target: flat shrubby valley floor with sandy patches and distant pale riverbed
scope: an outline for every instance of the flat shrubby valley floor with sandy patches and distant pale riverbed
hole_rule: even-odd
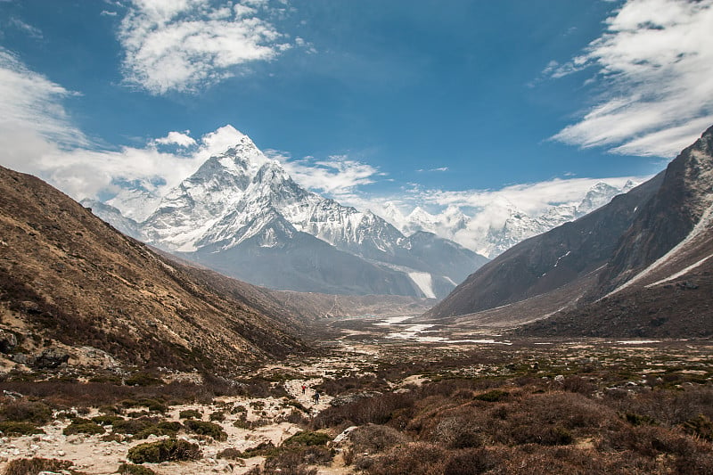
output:
[[[217,375],[205,394],[7,373],[0,471],[37,473],[18,461],[40,458],[86,474],[713,471],[709,340],[504,340],[397,317],[315,334],[319,356]],[[171,439],[200,455],[119,471],[142,462],[132,447]]]

